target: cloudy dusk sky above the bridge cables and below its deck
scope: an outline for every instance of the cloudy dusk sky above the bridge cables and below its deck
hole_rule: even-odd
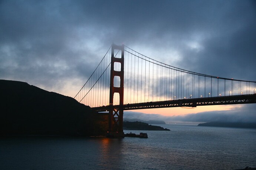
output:
[[[256,81],[255,0],[1,0],[0,23],[0,79],[66,96],[76,95],[112,43],[181,69]],[[136,113],[247,121],[256,120],[255,110],[245,104]]]

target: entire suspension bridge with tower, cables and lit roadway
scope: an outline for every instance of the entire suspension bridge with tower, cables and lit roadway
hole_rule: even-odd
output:
[[[108,136],[123,137],[124,110],[256,103],[255,92],[256,81],[180,69],[112,44],[74,98],[108,112]]]

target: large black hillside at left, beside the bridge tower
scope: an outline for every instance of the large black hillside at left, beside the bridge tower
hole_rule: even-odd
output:
[[[105,128],[89,106],[25,82],[0,80],[0,100],[0,135],[91,136]]]

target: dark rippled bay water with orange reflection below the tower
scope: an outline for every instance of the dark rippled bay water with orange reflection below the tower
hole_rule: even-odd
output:
[[[256,167],[256,129],[161,125],[148,138],[0,138],[0,169],[239,169]],[[125,130],[125,133],[142,131]]]

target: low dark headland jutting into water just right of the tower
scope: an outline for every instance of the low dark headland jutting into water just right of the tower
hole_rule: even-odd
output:
[[[148,125],[144,122],[123,122],[123,128],[126,130],[170,130],[160,126]]]

